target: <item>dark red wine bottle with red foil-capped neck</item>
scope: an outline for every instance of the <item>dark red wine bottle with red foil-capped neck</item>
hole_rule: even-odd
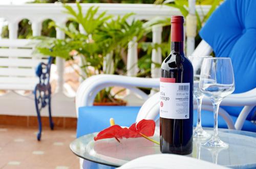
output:
[[[183,52],[183,16],[172,16],[172,48],[161,65],[160,150],[187,155],[193,150],[193,66]]]

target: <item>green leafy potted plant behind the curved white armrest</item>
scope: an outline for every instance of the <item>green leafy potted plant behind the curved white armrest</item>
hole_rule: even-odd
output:
[[[66,27],[52,23],[51,26],[61,29],[67,38],[37,37],[41,41],[37,44],[36,52],[65,60],[79,57],[82,70],[79,75],[83,79],[100,73],[124,74],[125,49],[133,37],[139,40],[146,32],[143,22],[134,19],[127,22],[133,13],[113,18],[106,12],[98,14],[98,7],[91,7],[85,15],[79,3],[77,12],[68,5],[64,7],[71,16],[69,19],[80,24],[85,33],[79,32],[72,23]],[[111,93],[111,88],[100,91],[95,98],[95,105],[125,105],[123,100],[115,97],[116,94]]]

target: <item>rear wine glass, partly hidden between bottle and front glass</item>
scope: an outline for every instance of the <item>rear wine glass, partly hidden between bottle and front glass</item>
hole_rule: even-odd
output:
[[[212,58],[211,56],[193,56],[188,57],[191,61],[194,69],[194,96],[197,99],[197,126],[193,132],[194,138],[209,138],[210,134],[203,130],[201,125],[201,106],[204,94],[199,89],[199,80],[200,80],[200,73],[201,67],[204,58]]]

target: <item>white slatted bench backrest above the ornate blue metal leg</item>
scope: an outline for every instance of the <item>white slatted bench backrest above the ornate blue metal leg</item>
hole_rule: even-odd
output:
[[[33,54],[35,40],[0,40],[0,89],[34,90],[39,78],[35,69],[47,57]]]

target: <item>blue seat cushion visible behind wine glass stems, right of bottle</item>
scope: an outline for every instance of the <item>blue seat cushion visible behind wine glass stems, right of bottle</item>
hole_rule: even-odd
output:
[[[233,122],[236,122],[237,117],[231,116]],[[203,127],[214,127],[214,113],[212,111],[202,110],[201,122]],[[194,110],[194,126],[197,125],[197,110]],[[228,128],[225,120],[218,116],[218,127]],[[250,121],[245,121],[242,130],[256,132],[256,125]]]

